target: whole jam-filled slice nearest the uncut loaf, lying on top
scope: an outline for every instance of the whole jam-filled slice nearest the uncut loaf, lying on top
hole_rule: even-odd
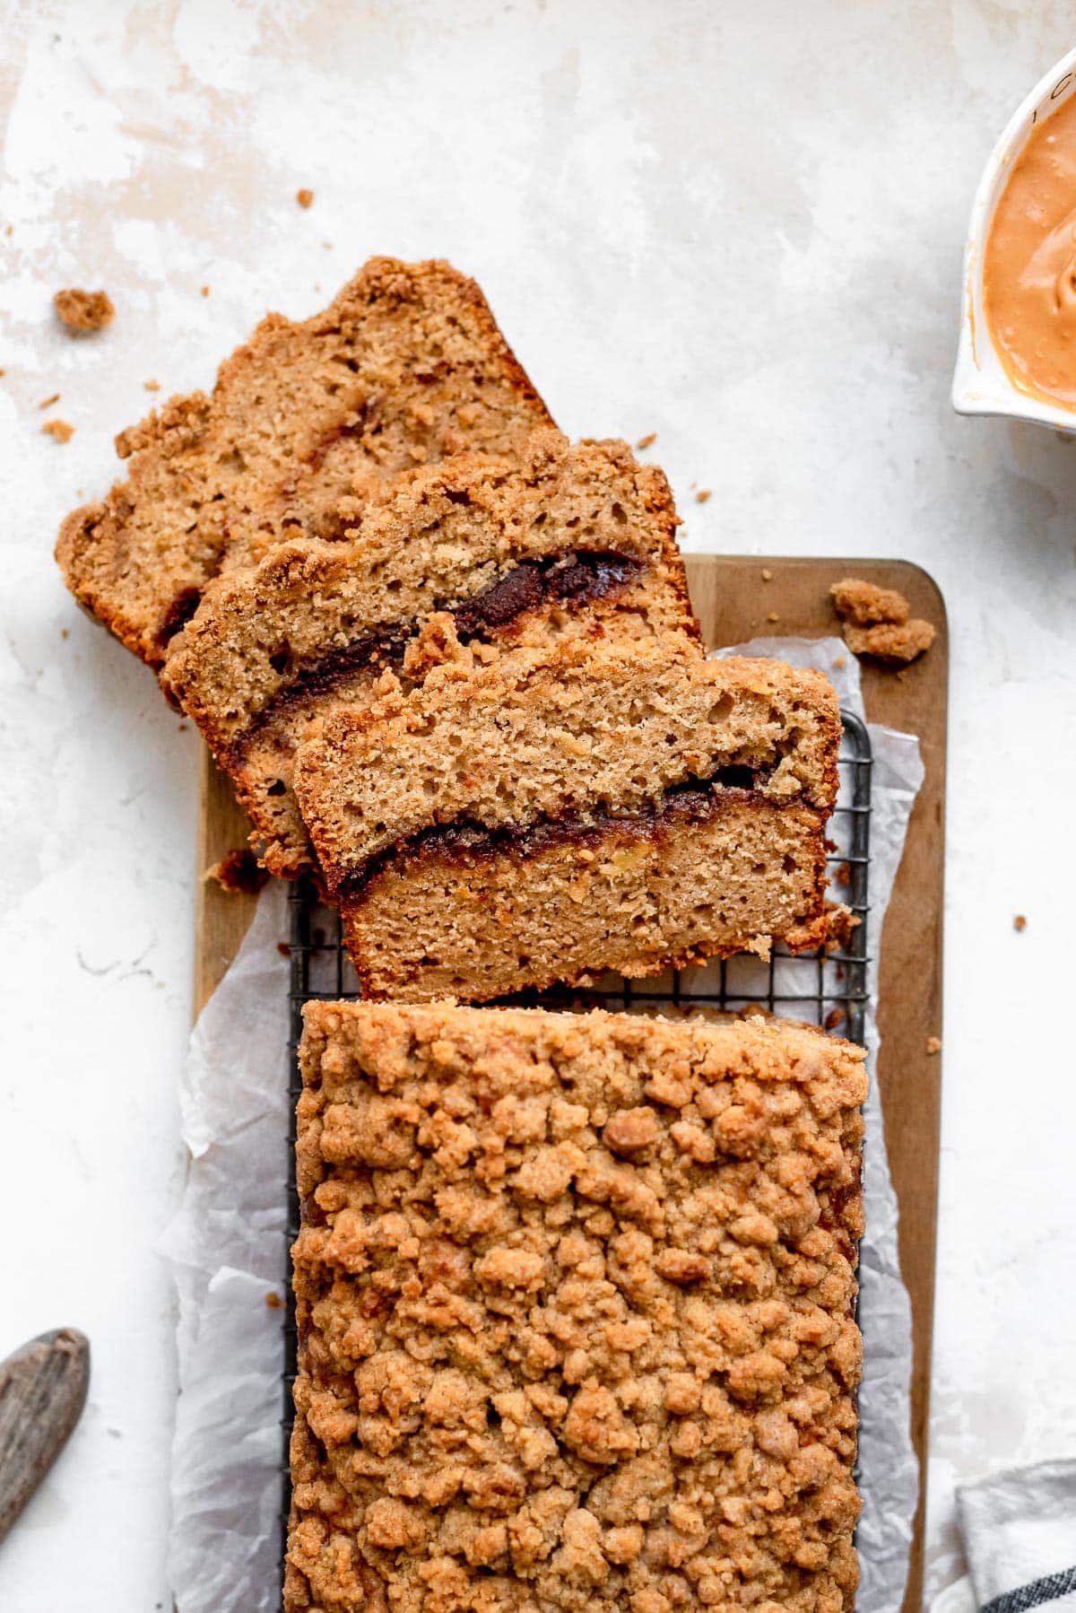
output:
[[[576,640],[337,713],[295,790],[365,994],[478,1002],[818,945],[839,742],[818,673]]]

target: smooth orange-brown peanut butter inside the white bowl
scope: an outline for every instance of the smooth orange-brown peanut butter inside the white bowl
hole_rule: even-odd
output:
[[[982,306],[1021,392],[1076,410],[1076,95],[1036,124],[994,210]]]

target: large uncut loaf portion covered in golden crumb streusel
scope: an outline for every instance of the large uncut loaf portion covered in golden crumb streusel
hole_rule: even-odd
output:
[[[311,1003],[287,1613],[855,1603],[863,1052]]]

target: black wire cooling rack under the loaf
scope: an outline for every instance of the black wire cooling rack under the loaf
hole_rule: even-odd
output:
[[[840,790],[828,826],[828,863],[831,894],[858,919],[836,952],[807,952],[790,957],[776,947],[771,958],[724,958],[690,969],[668,971],[653,979],[632,982],[608,976],[595,987],[578,992],[553,989],[528,994],[526,1002],[547,1008],[594,1005],[621,1011],[647,1008],[705,1007],[728,1013],[760,1008],[805,1019],[826,1031],[863,1042],[866,1021],[866,966],[870,866],[871,866],[871,737],[853,711],[842,711],[839,756]],[[292,1073],[290,1124],[287,1139],[287,1247],[298,1236],[298,1194],[295,1189],[295,1100],[302,1092],[298,1079],[298,1040],[303,1032],[303,1003],[337,1002],[360,995],[355,971],[340,939],[339,913],[324,907],[311,884],[300,881],[289,894],[290,953],[290,1039],[289,1069]],[[289,1258],[290,1273],[290,1258]],[[284,1324],[284,1494],[281,1508],[281,1573],[287,1515],[290,1508],[289,1439],[292,1429],[292,1384],[295,1382],[295,1308],[287,1287],[287,1319]]]

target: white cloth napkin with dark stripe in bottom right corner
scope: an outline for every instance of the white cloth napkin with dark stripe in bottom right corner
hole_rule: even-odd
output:
[[[966,1484],[957,1515],[970,1576],[931,1613],[1076,1613],[1076,1461]]]

